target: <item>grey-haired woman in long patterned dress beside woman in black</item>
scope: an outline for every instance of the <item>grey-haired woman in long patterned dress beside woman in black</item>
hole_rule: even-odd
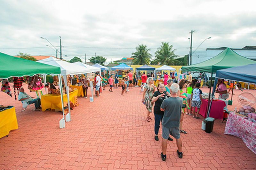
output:
[[[147,85],[145,86],[145,89],[143,91],[142,96],[142,103],[145,104],[148,112],[147,112],[147,121],[150,122],[152,119],[149,114],[152,113],[152,98],[153,94],[155,92],[155,86],[154,86],[154,79],[152,77],[149,77],[147,79]]]

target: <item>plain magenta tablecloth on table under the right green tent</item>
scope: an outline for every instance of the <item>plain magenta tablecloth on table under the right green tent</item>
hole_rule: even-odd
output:
[[[203,99],[199,114],[204,116],[204,118],[206,118],[206,115],[207,115],[206,113],[207,106],[208,106],[208,100]],[[226,106],[226,103],[222,100],[212,101],[212,107],[211,107],[209,117],[212,117],[214,119],[223,119],[223,109],[225,106]]]

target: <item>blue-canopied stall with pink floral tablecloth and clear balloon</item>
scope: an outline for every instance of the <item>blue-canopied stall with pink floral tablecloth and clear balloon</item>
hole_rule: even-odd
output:
[[[255,72],[256,64],[249,64],[240,67],[217,70],[215,80],[217,80],[217,78],[223,78],[232,81],[241,81],[256,84]],[[214,84],[214,87],[215,86],[216,84]],[[213,88],[213,94],[214,91],[215,89]],[[251,93],[242,93],[237,96],[237,98],[238,102],[243,105],[243,107],[237,106],[237,108],[241,107],[238,109],[239,113],[231,112],[229,114],[224,134],[234,135],[236,137],[242,138],[246,146],[252,152],[256,153],[256,114],[255,109],[254,111],[252,109],[252,106],[255,103],[255,96],[253,96]],[[246,111],[248,109],[251,110],[251,113],[249,111]]]

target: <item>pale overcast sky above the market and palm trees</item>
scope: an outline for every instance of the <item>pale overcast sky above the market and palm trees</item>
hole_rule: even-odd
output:
[[[256,45],[255,0],[0,0],[0,52],[17,55],[56,53],[62,40],[62,56],[87,61],[101,55],[118,60],[130,57],[138,44],[154,56],[161,42],[169,42],[175,54],[193,50],[243,48]],[[52,47],[53,48],[53,47]],[[65,56],[66,55],[66,56]],[[58,56],[60,56],[58,54]]]

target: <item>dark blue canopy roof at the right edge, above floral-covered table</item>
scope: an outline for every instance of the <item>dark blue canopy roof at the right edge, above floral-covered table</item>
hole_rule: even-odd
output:
[[[256,84],[256,64],[232,67],[216,71],[216,78]]]

